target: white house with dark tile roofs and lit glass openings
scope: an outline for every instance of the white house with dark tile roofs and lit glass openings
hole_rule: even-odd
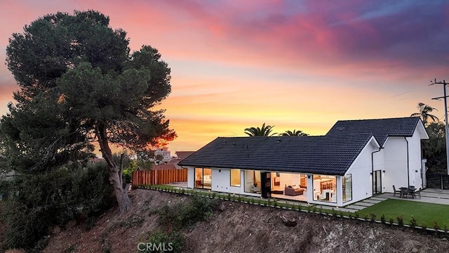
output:
[[[419,117],[344,120],[325,136],[219,137],[178,164],[189,188],[336,207],[425,187]]]

